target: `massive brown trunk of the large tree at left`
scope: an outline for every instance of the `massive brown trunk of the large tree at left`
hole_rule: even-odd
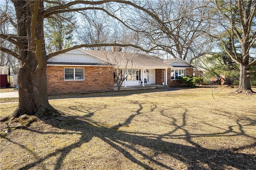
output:
[[[17,34],[23,39],[17,45],[18,54],[22,57],[18,73],[19,104],[14,113],[2,121],[13,120],[21,115],[35,115],[40,119],[54,117],[58,111],[49,104],[47,95],[43,1],[12,2],[17,16]]]

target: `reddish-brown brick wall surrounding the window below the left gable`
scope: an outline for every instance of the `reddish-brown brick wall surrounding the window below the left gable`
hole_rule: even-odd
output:
[[[64,68],[84,68],[84,80],[64,81]],[[49,95],[112,91],[113,69],[95,66],[47,66],[47,85]]]

